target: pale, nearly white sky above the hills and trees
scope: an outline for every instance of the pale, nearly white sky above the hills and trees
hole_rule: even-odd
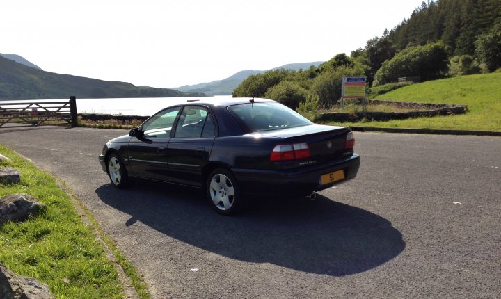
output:
[[[0,53],[42,70],[173,88],[351,54],[422,0],[3,0]]]

